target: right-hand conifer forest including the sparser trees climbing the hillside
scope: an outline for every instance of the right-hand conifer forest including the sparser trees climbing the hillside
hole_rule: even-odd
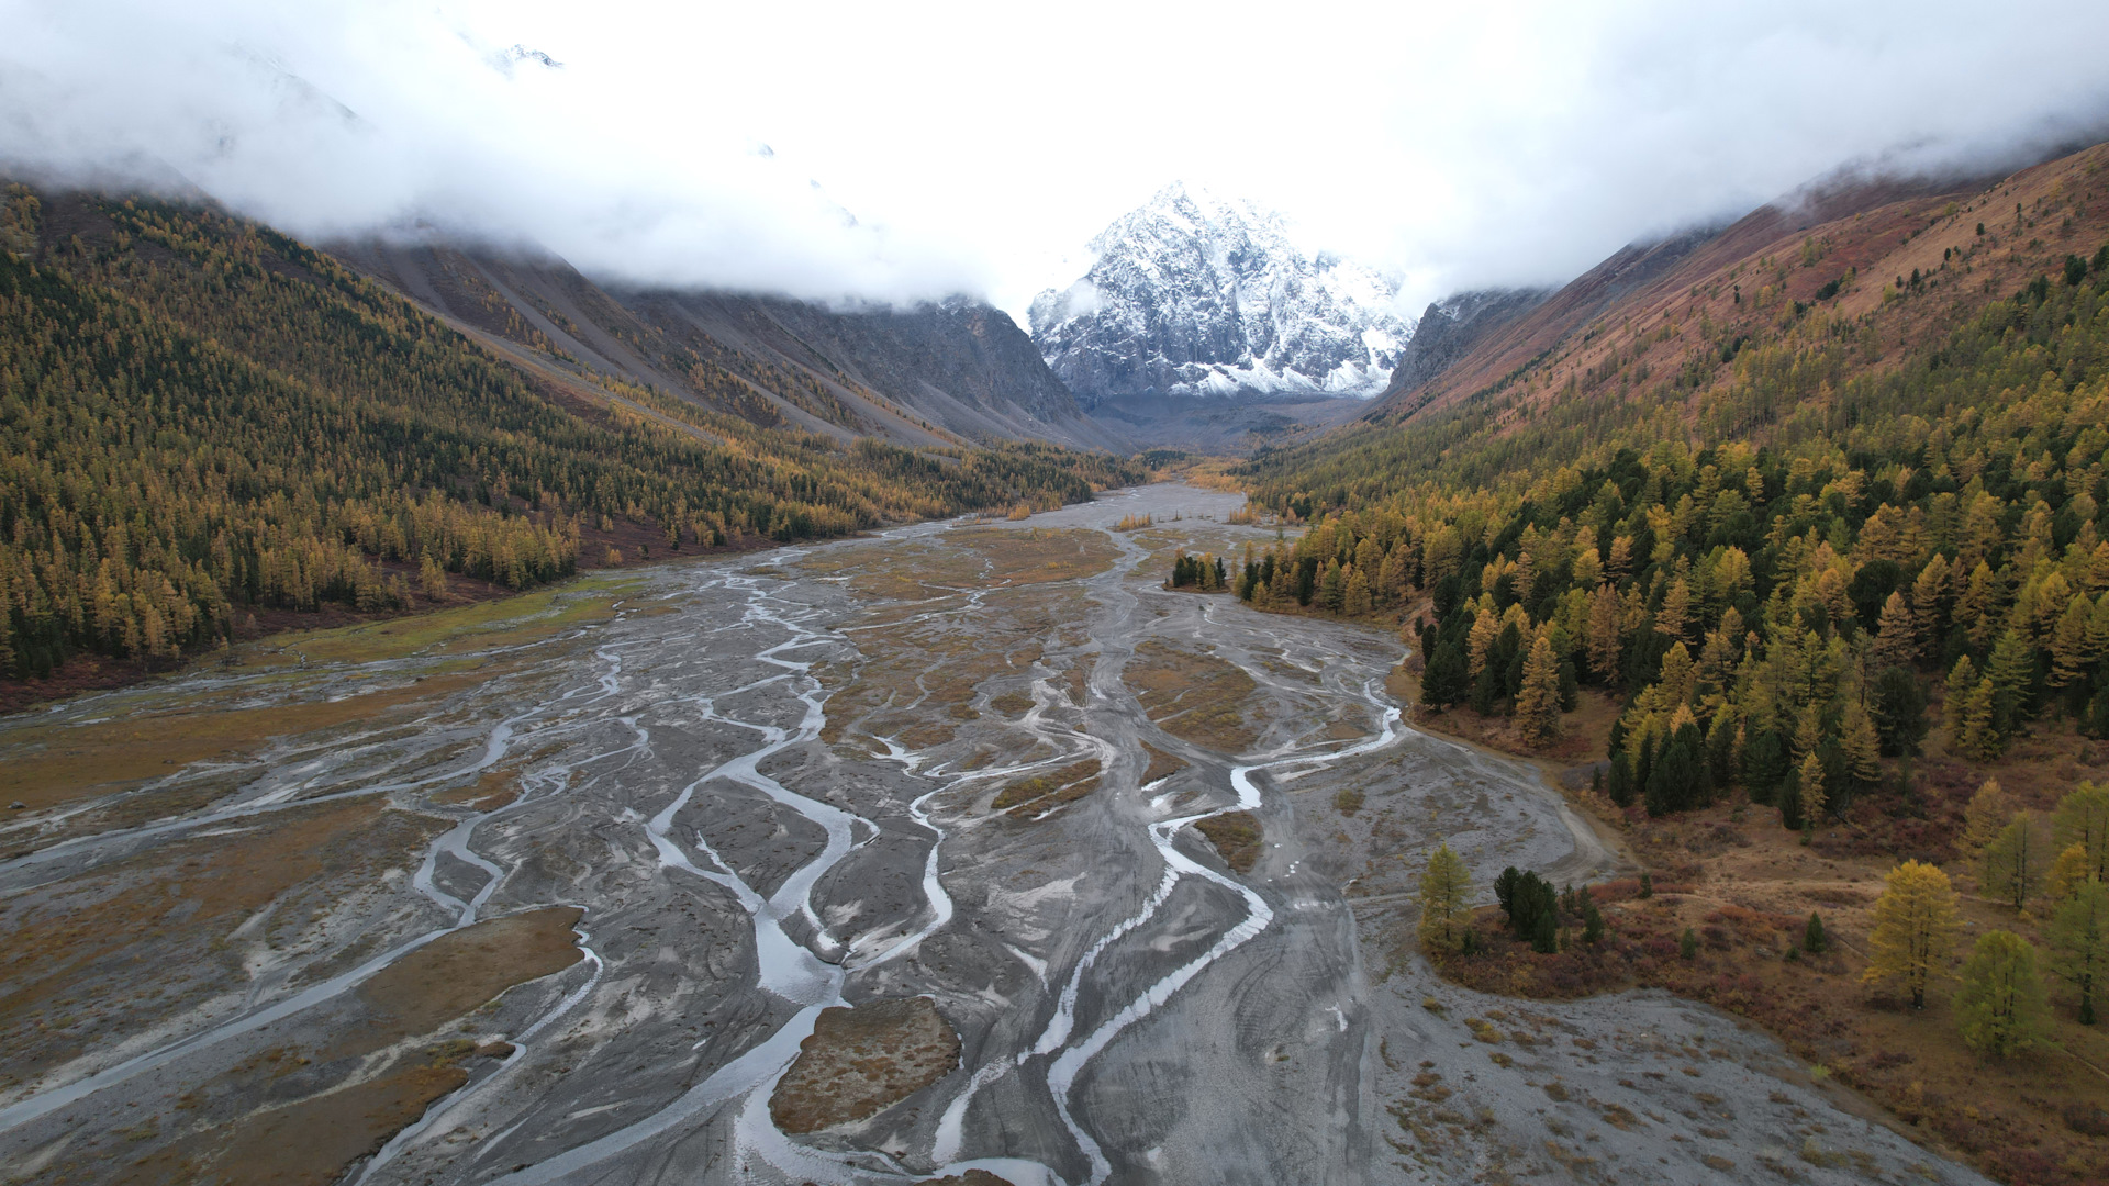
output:
[[[1620,692],[1607,791],[1656,815],[1738,785],[1791,825],[1837,815],[1930,728],[1978,758],[2046,715],[2109,737],[2109,245],[2079,247],[2004,293],[1951,253],[1864,314],[1839,283],[1738,285],[1717,323],[1694,289],[1689,319],[1628,325],[1689,340],[1651,386],[1613,346],[1599,390],[1525,374],[1255,458],[1253,498],[1312,528],[1232,587],[1348,616],[1426,595],[1424,701],[1527,739],[1580,686]]]

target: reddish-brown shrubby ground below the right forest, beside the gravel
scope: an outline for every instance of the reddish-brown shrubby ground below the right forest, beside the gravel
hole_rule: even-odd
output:
[[[1944,802],[1926,804],[1947,819]],[[1959,812],[1959,808],[1957,808]],[[1942,848],[1947,823],[1921,836]],[[1911,1135],[1949,1148],[2001,1182],[2088,1184],[2109,1175],[2109,1034],[2073,1021],[2073,1002],[2052,986],[2060,1049],[1987,1059],[1970,1051],[1944,994],[1913,1013],[1909,1000],[1860,983],[1866,933],[1885,855],[1856,855],[1845,823],[1810,846],[1765,808],[1717,806],[1630,829],[1656,869],[1651,899],[1628,878],[1592,888],[1605,939],[1580,941],[1571,924],[1561,954],[1533,954],[1504,929],[1497,910],[1476,918],[1481,952],[1438,960],[1459,983],[1529,998],[1571,998],[1620,988],[1662,988],[1744,1015],[1776,1034],[1818,1076],[1833,1076],[1888,1108]],[[1799,952],[1812,912],[1829,948]],[[1970,935],[2035,922],[1966,895]],[[1691,929],[1698,954],[1679,956]],[[1788,954],[1793,952],[1793,954]]]

